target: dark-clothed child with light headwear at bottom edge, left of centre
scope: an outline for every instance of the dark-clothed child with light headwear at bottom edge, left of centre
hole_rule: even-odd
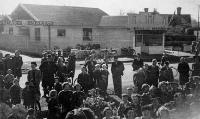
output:
[[[59,119],[59,104],[57,100],[57,91],[49,92],[50,99],[48,101],[48,116],[47,119]]]

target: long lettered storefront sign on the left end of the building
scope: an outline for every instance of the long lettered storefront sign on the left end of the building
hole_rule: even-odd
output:
[[[50,26],[52,21],[0,21],[0,25],[32,25],[32,26]]]

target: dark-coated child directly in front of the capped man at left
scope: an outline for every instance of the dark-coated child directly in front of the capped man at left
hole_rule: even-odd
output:
[[[22,90],[22,99],[23,99],[23,105],[25,108],[33,108],[35,96],[34,96],[34,88],[31,86],[30,82],[25,83],[25,88]]]

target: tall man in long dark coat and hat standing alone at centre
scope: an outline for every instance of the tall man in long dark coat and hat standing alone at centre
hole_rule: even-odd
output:
[[[114,84],[114,91],[118,97],[121,97],[122,94],[122,79],[121,76],[123,75],[124,71],[124,64],[121,61],[118,61],[118,57],[114,57],[114,62],[111,66],[111,72],[113,76],[113,84]]]

